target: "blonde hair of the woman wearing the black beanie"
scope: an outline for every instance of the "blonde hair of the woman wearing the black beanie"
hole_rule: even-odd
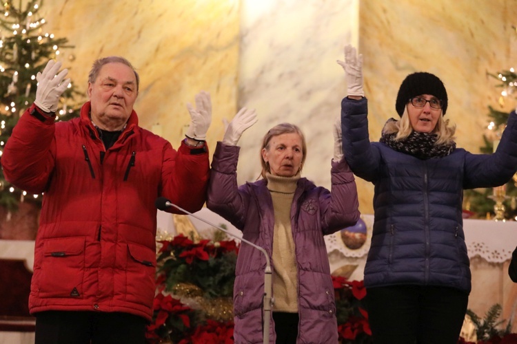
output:
[[[383,128],[383,133],[397,133],[395,140],[403,140],[407,138],[413,132],[413,127],[409,121],[409,115],[407,114],[407,105],[402,114],[401,120],[391,120],[386,123]],[[454,133],[456,133],[456,125],[449,125],[449,120],[443,120],[443,116],[440,114],[436,127],[432,133],[436,134],[436,142],[434,144],[452,144],[456,139]]]

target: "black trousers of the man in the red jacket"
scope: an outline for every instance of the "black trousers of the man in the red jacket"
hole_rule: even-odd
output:
[[[119,312],[48,311],[36,314],[35,344],[143,344],[141,317]]]

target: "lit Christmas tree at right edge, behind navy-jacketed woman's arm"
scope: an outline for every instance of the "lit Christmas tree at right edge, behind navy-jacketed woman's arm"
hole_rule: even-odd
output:
[[[502,90],[498,100],[499,109],[492,106],[488,107],[490,122],[487,129],[489,135],[483,135],[485,146],[480,147],[481,153],[485,154],[492,153],[497,148],[510,115],[509,111],[503,109],[507,107],[507,103],[511,102],[512,98],[517,98],[517,74],[514,67],[488,75],[498,80],[496,88]],[[510,105],[515,105],[515,103]],[[498,188],[465,190],[464,208],[475,217],[492,218],[494,217],[494,206],[496,206],[495,195],[499,195],[503,200],[504,209],[501,208],[501,211],[504,211],[504,218],[517,219],[517,174],[507,184]]]

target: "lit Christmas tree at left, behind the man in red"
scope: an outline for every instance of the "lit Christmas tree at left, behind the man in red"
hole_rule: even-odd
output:
[[[5,0],[0,6],[0,156],[12,128],[36,98],[37,73],[51,58],[59,56],[61,48],[72,47],[67,39],[43,30],[46,22],[39,14],[42,5],[41,0],[30,0],[21,10],[21,0],[18,8],[12,0]],[[78,95],[70,83],[61,98],[57,120],[79,116],[79,105],[74,101]],[[1,173],[0,205],[12,209],[20,201],[41,204],[41,195],[27,195],[6,182]]]

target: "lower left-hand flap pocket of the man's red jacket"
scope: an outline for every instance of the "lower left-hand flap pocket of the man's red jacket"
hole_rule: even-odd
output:
[[[46,239],[39,285],[40,297],[83,297],[84,237]]]

